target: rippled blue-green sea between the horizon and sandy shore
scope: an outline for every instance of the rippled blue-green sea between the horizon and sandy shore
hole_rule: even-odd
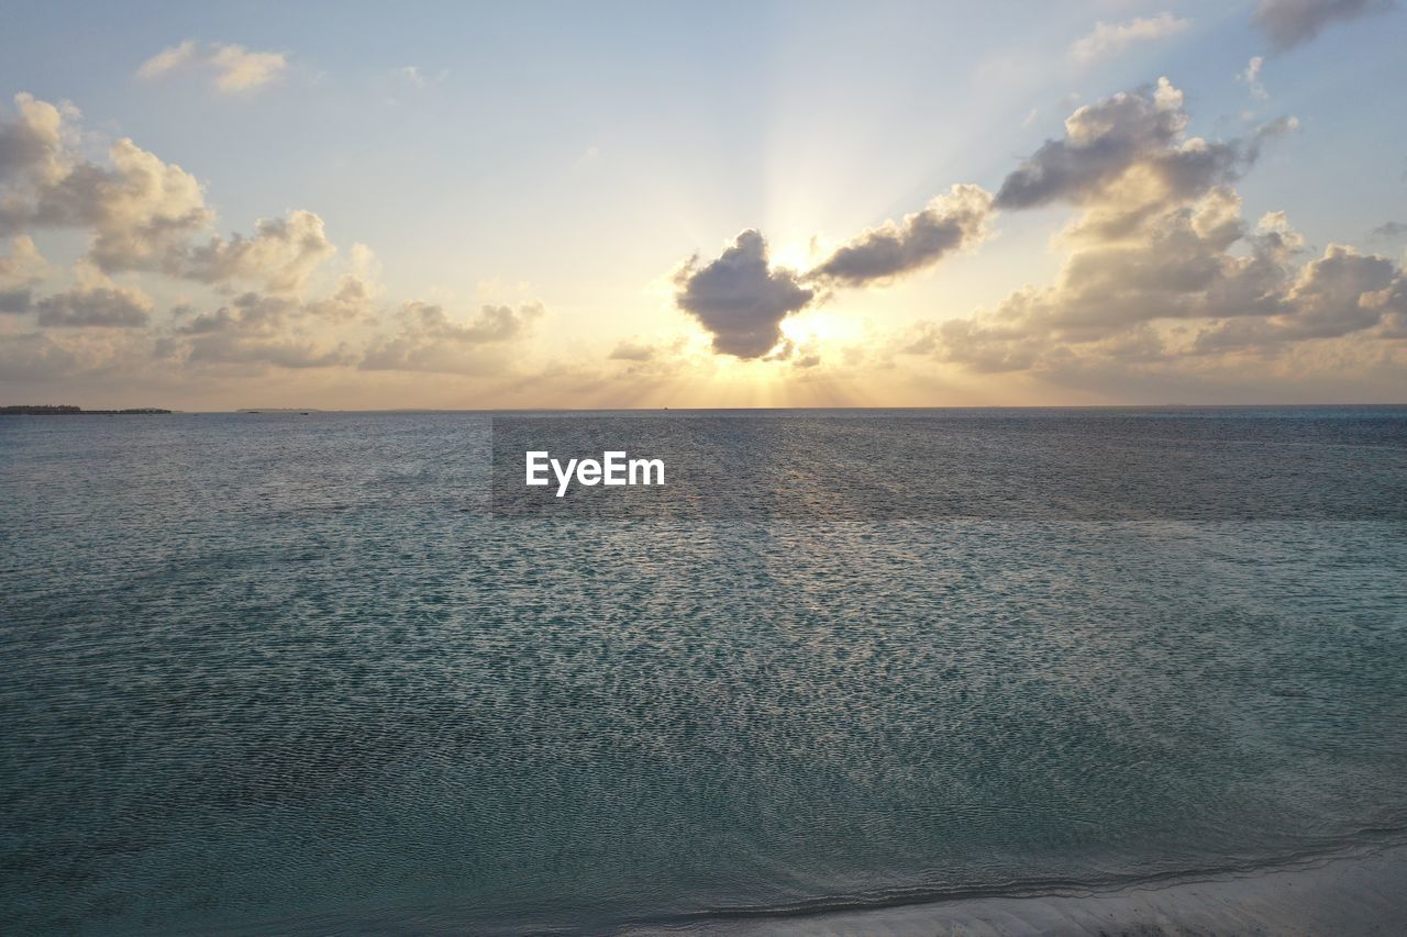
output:
[[[1407,843],[1407,409],[713,418],[812,509],[508,516],[484,414],[0,421],[0,933],[713,933]],[[1076,502],[1112,439],[1175,508]],[[908,506],[830,511],[834,453]]]

